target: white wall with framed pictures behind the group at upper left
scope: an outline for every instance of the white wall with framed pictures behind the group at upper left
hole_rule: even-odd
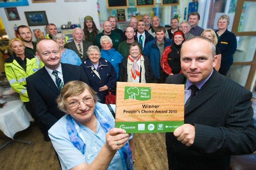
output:
[[[48,23],[54,23],[57,27],[67,24],[80,23],[79,18],[90,15],[99,28],[99,18],[96,0],[87,0],[86,2],[64,2],[64,0],[56,0],[49,3],[32,3],[28,0],[29,6],[17,6],[20,20],[8,21],[4,8],[0,8],[0,16],[4,22],[6,33],[9,39],[15,38],[14,25],[28,25],[24,12],[29,11],[46,11]],[[30,29],[40,29],[44,32],[44,26],[31,26]]]

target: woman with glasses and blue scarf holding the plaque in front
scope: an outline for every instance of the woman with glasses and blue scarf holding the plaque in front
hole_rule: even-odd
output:
[[[48,133],[62,170],[134,169],[132,135],[114,128],[114,111],[98,102],[90,86],[80,81],[68,82],[57,103],[66,115]],[[110,107],[115,110],[115,105]]]

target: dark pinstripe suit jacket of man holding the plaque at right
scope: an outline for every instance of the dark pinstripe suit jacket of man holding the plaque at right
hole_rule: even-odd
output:
[[[168,76],[167,84],[184,84],[183,74]],[[230,155],[256,150],[252,93],[214,70],[185,108],[184,123],[196,129],[194,143],[186,147],[166,133],[170,169],[228,169]]]

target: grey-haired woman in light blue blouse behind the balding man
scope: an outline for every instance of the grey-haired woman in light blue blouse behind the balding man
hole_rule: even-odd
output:
[[[74,52],[73,50],[64,48],[65,38],[66,38],[66,35],[62,33],[57,33],[52,37],[52,40],[54,40],[60,47],[60,52],[62,54],[60,62],[80,66],[82,64],[82,61],[78,57],[76,52]]]

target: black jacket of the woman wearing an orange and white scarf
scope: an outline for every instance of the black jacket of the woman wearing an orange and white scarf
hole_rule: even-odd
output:
[[[127,80],[128,80],[127,62],[128,62],[128,57],[126,57],[122,60],[122,63],[120,66],[120,71],[119,71],[119,78],[118,78],[119,82],[127,82]],[[148,57],[144,57],[144,67],[145,67],[146,83],[153,83],[154,82],[153,81],[153,72],[152,72],[152,68],[151,68],[150,61],[149,61]],[[140,69],[140,73],[141,73],[141,69]],[[141,79],[140,79],[140,81],[141,81]]]

